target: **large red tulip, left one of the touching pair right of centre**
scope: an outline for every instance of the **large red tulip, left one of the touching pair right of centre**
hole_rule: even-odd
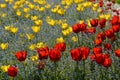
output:
[[[82,59],[82,54],[79,48],[72,49],[70,53],[73,60],[80,61]]]

